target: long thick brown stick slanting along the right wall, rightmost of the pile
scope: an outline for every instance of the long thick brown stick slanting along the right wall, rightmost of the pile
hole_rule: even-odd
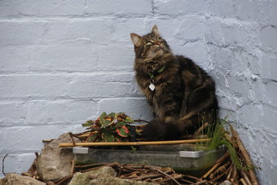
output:
[[[238,136],[238,132],[236,132],[234,129],[233,129],[233,126],[230,125],[230,129],[231,129],[231,132],[233,134],[233,136],[235,136],[235,139],[238,143],[238,148],[240,149],[240,152],[242,152],[242,156],[244,157],[245,161],[247,162],[247,166],[253,166],[253,163],[249,157],[249,154],[247,152],[247,150],[245,150],[243,144],[242,144],[242,141],[240,140],[240,137]],[[254,172],[253,169],[249,169],[249,176],[250,176],[250,179],[251,179],[251,182],[253,185],[258,185],[258,179],[256,177],[256,174]]]

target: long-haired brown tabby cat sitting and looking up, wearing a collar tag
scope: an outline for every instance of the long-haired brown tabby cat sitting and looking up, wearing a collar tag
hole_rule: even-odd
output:
[[[193,134],[202,119],[217,118],[215,82],[195,62],[174,55],[155,25],[144,36],[131,33],[136,81],[154,114],[143,128],[148,140],[181,139]]]

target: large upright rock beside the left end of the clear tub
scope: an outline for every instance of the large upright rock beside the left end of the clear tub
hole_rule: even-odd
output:
[[[79,139],[75,139],[79,142]],[[36,166],[39,177],[44,182],[60,179],[70,175],[71,161],[74,159],[72,150],[69,148],[60,148],[59,143],[71,143],[71,137],[68,133],[62,134],[59,138],[48,143],[39,155]]]

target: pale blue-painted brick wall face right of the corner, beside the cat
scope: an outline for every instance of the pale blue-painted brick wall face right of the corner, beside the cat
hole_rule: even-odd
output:
[[[277,1],[208,1],[206,42],[222,114],[236,121],[261,184],[277,174]]]

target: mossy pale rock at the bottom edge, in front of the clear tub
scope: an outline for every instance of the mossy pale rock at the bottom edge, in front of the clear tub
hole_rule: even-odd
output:
[[[69,185],[87,185],[89,184],[89,177],[116,177],[116,170],[107,166],[98,170],[89,171],[87,173],[75,173]]]

